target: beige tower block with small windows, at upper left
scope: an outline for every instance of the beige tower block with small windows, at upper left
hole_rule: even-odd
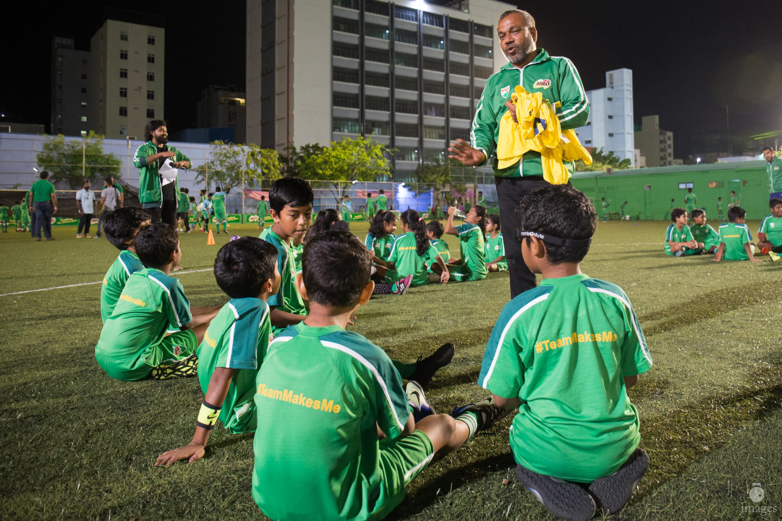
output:
[[[142,139],[163,119],[163,16],[107,9],[91,40],[88,123],[106,137]]]

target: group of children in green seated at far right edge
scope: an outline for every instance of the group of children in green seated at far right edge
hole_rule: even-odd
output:
[[[760,224],[758,244],[761,255],[768,254],[773,261],[780,260],[782,253],[782,199],[769,201],[770,215]],[[665,254],[702,255],[714,254],[715,261],[755,259],[755,244],[752,233],[744,223],[747,212],[740,206],[728,210],[728,221],[719,225],[719,232],[706,224],[706,212],[703,209],[692,211],[694,224],[687,226],[687,210],[675,208],[671,211],[673,224],[665,231]]]

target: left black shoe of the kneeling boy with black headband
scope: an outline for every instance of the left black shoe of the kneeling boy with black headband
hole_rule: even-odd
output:
[[[554,516],[568,521],[589,521],[594,516],[594,499],[578,484],[544,476],[521,465],[516,466],[516,477]]]

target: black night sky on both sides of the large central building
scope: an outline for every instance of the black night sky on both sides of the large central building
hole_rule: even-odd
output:
[[[73,34],[77,47],[88,48],[106,5],[166,17],[165,117],[172,132],[195,127],[195,102],[210,84],[244,85],[245,2],[57,2],[37,12],[31,25],[5,24],[0,58],[5,120],[48,124],[51,38]],[[607,70],[632,69],[636,123],[659,114],[660,127],[674,133],[677,158],[716,152],[698,145],[704,134],[718,134],[717,143],[721,136],[724,145],[711,148],[727,148],[726,105],[734,155],[741,138],[782,130],[782,2],[520,7],[536,18],[538,46],[572,59],[587,90],[604,87]]]

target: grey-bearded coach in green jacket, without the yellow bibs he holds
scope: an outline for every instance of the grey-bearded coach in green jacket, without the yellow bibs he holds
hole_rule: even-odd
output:
[[[576,66],[567,58],[552,57],[542,48],[536,48],[537,30],[529,12],[518,9],[503,12],[497,23],[497,37],[508,64],[486,81],[472,121],[470,142],[458,139],[448,148],[450,158],[467,166],[482,166],[493,154],[500,136],[500,120],[506,110],[511,110],[516,119],[511,94],[517,85],[528,92],[543,93],[543,98],[552,105],[560,102],[556,111],[562,130],[583,126],[589,116],[589,100]],[[572,163],[565,165],[572,172]],[[514,238],[513,230],[521,226],[515,209],[526,194],[548,183],[543,180],[539,152],[527,152],[515,165],[502,170],[497,168],[495,156],[493,168],[502,227],[506,230],[503,240],[511,298],[514,298],[536,285],[535,274],[524,263],[522,248]]]

